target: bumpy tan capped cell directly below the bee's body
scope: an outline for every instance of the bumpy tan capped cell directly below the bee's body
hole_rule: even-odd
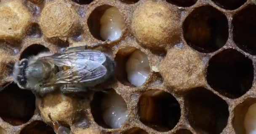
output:
[[[50,93],[37,98],[37,107],[40,110],[43,121],[52,123],[59,121],[60,124],[71,124],[77,116],[81,100],[62,93]]]

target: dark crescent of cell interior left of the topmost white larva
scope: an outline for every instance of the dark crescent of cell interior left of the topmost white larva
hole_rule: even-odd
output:
[[[95,8],[87,21],[89,31],[91,32],[93,37],[101,41],[104,41],[104,39],[102,39],[100,36],[100,28],[101,28],[100,19],[104,14],[104,12],[111,7],[112,6],[110,5],[101,5]]]

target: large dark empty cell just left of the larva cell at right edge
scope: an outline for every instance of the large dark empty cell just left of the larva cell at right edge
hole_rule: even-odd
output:
[[[205,88],[189,90],[185,110],[189,124],[200,134],[219,134],[227,126],[227,103]]]

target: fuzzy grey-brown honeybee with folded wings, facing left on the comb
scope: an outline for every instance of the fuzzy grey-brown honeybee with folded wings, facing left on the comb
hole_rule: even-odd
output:
[[[106,53],[77,46],[21,59],[14,64],[13,81],[19,88],[41,96],[57,89],[64,94],[79,94],[106,81],[114,72],[115,61]]]

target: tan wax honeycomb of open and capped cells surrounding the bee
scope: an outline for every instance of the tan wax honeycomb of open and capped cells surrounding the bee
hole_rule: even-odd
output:
[[[53,121],[73,134],[246,134],[255,31],[255,0],[0,0],[0,134],[55,134]],[[12,82],[19,59],[106,38],[96,49],[117,63],[106,92],[39,98]]]

